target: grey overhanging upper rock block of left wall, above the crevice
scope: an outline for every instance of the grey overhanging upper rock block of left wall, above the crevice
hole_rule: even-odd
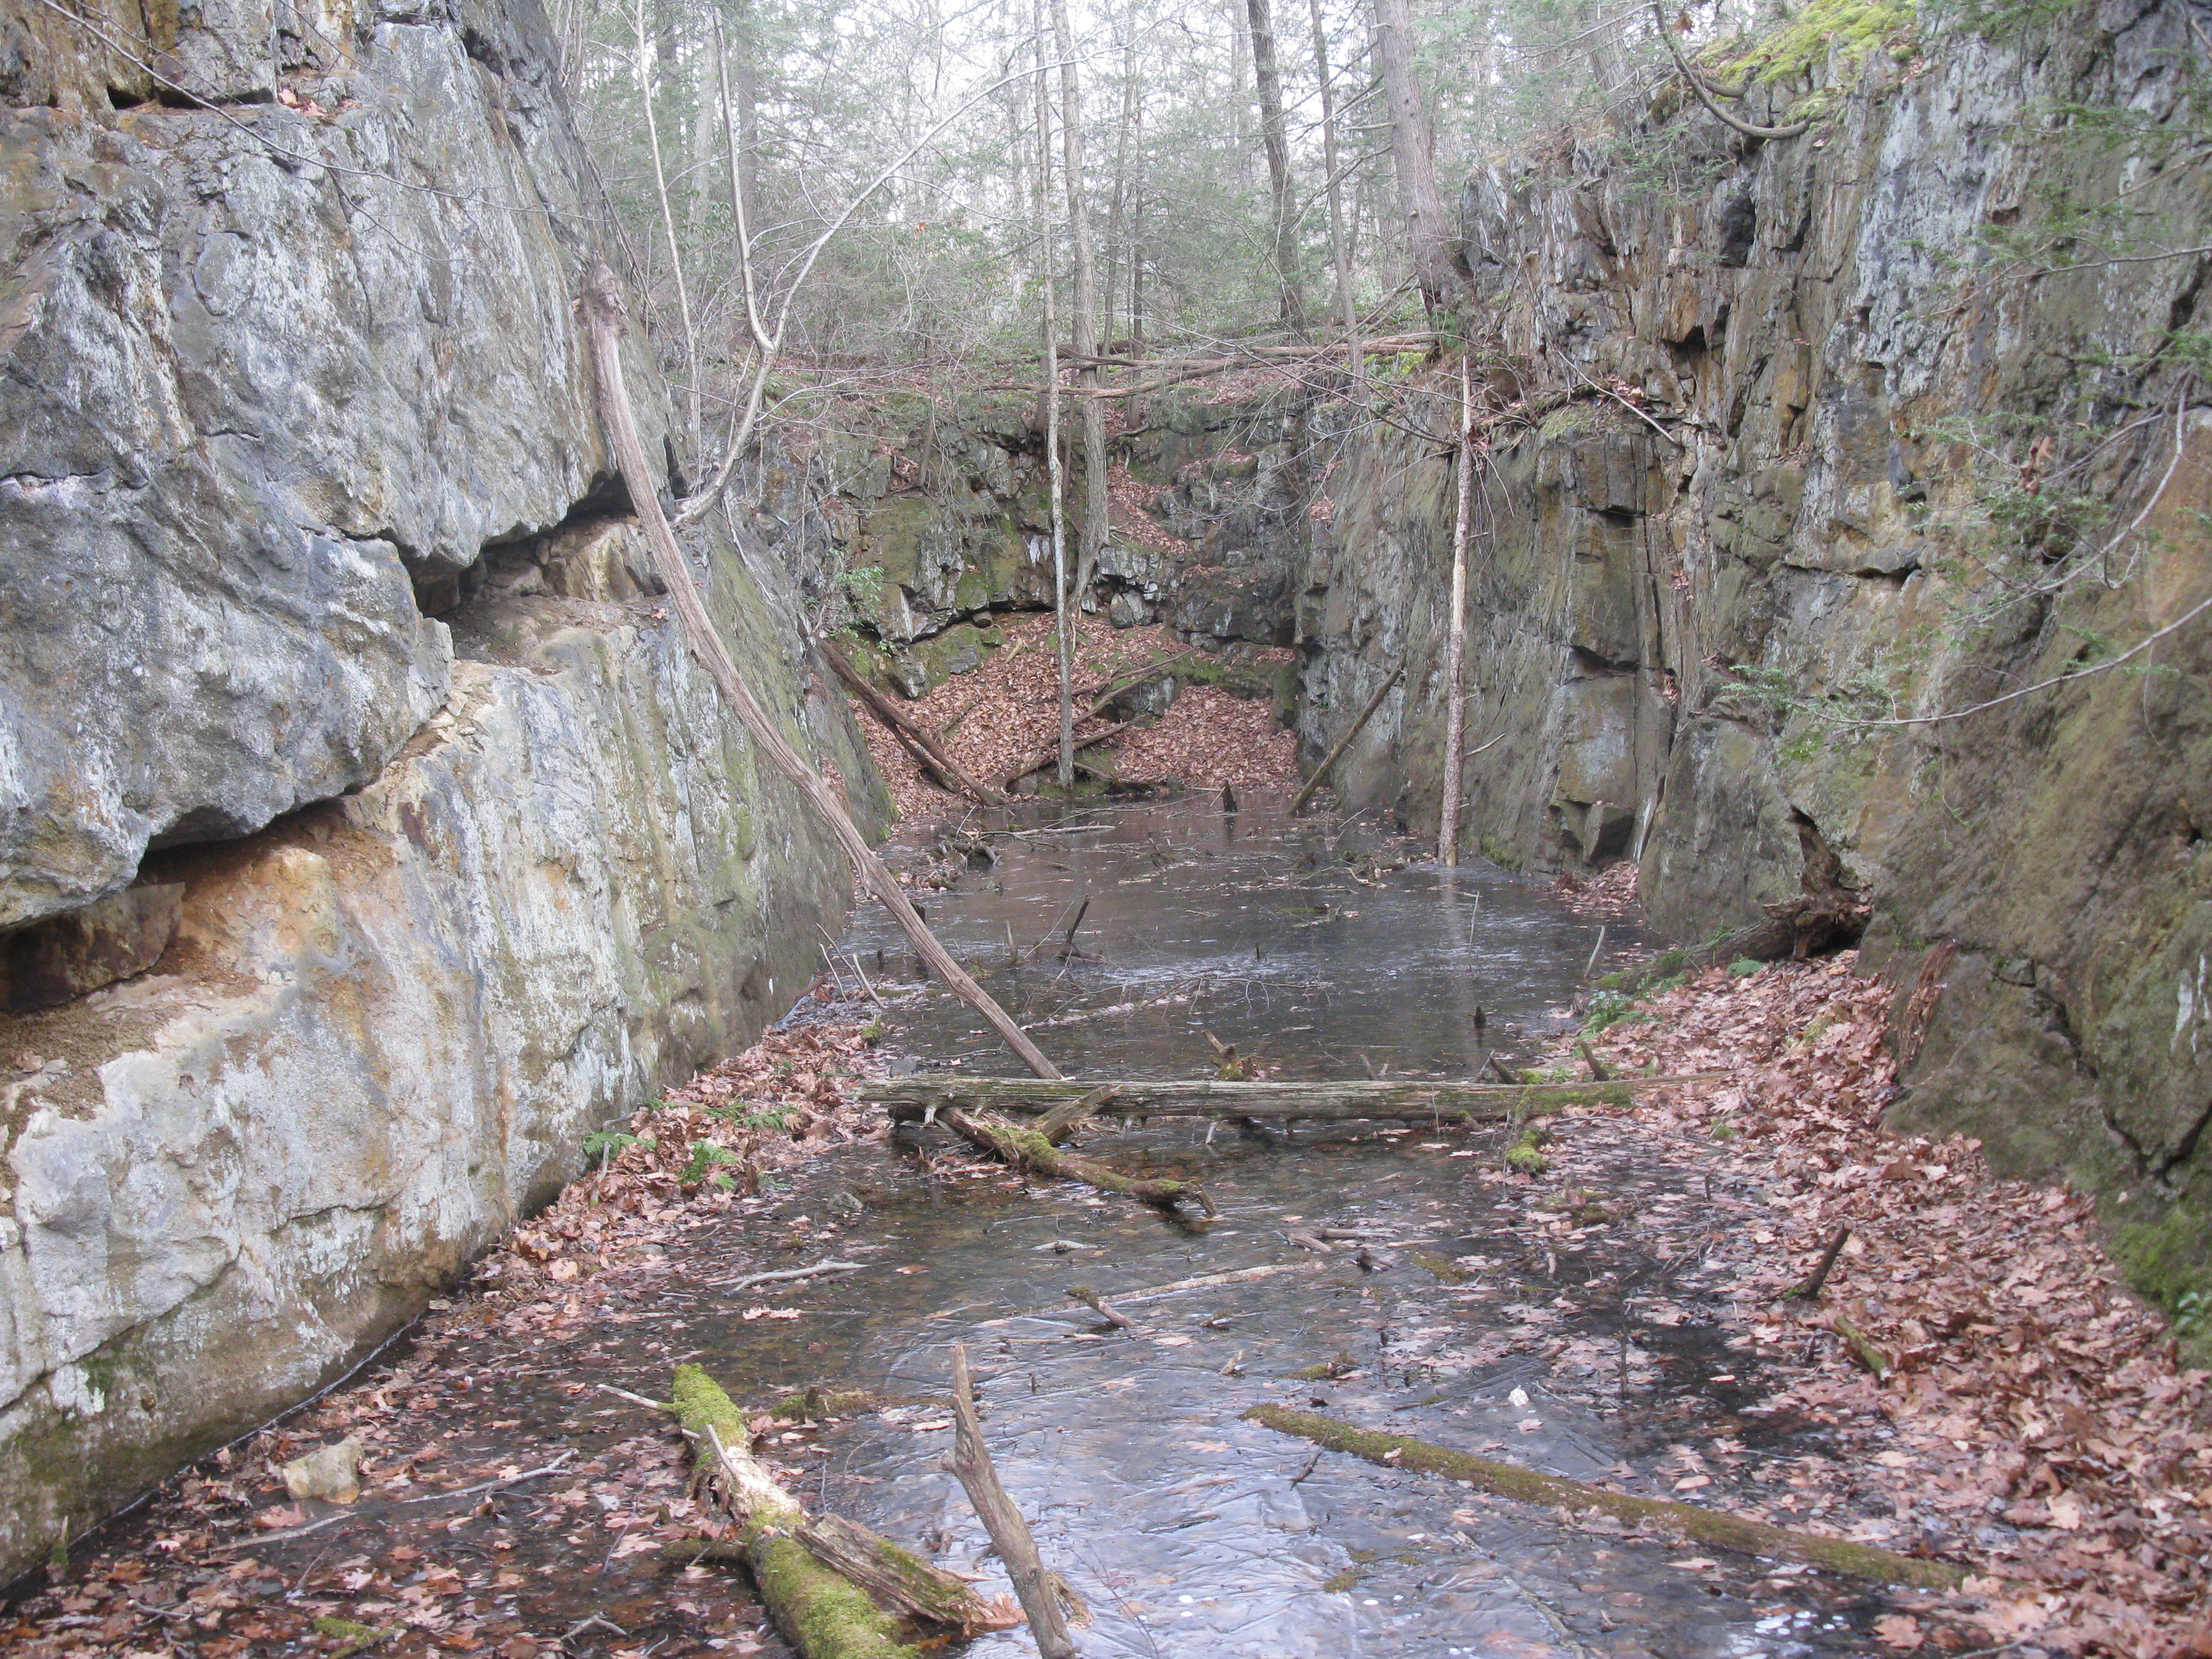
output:
[[[139,40],[139,7],[111,11]],[[15,24],[0,927],[374,779],[447,697],[414,584],[611,473],[568,314],[591,210],[533,0],[279,13],[148,11],[170,84],[60,9]],[[268,102],[279,66],[296,106]]]

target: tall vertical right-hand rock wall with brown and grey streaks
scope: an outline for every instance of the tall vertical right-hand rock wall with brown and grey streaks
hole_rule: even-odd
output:
[[[1805,137],[1692,106],[1637,168],[1566,153],[1462,204],[1522,398],[1486,429],[1469,741],[1498,743],[1469,838],[1509,865],[1639,856],[1692,940],[1869,891],[1898,1121],[2095,1181],[2168,1296],[2212,1254],[2190,29],[2124,0],[2051,40],[1876,51],[1814,69]],[[1754,82],[1750,115],[1803,91]],[[1371,440],[1332,493],[1307,752],[1405,659],[1340,787],[1433,825],[1449,476]]]

